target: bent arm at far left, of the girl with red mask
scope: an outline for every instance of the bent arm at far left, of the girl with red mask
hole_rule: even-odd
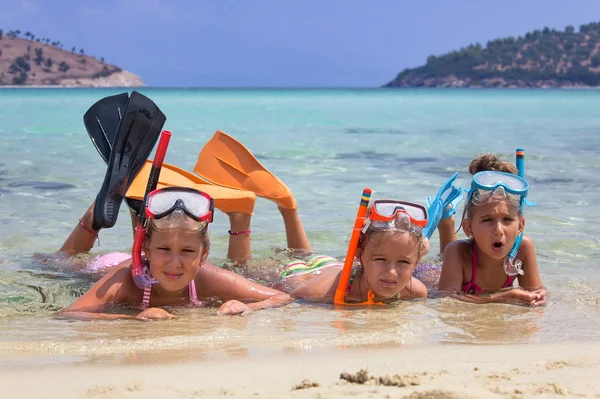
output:
[[[150,308],[137,316],[126,314],[102,313],[106,305],[134,302],[138,298],[131,278],[131,260],[126,260],[111,268],[104,277],[92,286],[85,294],[59,313],[60,318],[78,320],[116,320],[116,319],[163,319],[174,317],[162,309]]]

